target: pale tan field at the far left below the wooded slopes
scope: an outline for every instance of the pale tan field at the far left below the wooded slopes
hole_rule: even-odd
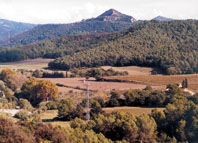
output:
[[[26,70],[36,70],[44,69],[48,67],[48,63],[53,59],[31,59],[19,62],[9,62],[9,63],[0,63],[0,70],[4,68],[12,69],[26,69]]]

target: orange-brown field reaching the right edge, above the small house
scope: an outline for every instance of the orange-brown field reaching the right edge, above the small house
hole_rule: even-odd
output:
[[[157,84],[157,85],[167,85],[173,83],[181,83],[184,79],[188,79],[189,88],[193,90],[198,90],[198,74],[191,75],[134,75],[134,76],[115,76],[106,77],[106,79],[119,79],[119,80],[129,80],[134,82],[139,82],[142,84]]]

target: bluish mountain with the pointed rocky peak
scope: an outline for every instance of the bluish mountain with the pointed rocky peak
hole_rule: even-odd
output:
[[[27,32],[15,35],[10,41],[1,41],[0,47],[26,45],[64,35],[120,31],[130,27],[135,21],[131,16],[110,9],[96,18],[77,23],[38,25]]]

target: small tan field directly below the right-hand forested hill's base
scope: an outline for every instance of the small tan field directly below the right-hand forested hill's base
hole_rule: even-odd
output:
[[[127,71],[129,75],[151,75],[152,71],[157,71],[161,73],[160,69],[157,68],[149,68],[149,67],[138,67],[138,66],[126,66],[126,67],[112,67],[112,66],[102,66],[104,70],[108,70],[110,68],[115,71]]]

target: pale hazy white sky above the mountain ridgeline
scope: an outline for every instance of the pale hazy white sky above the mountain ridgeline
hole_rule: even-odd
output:
[[[136,19],[198,19],[198,0],[0,0],[0,18],[35,24],[71,23],[114,8]]]

